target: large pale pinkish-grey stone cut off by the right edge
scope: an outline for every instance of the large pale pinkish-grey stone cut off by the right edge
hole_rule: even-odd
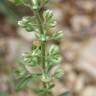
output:
[[[96,80],[96,38],[92,38],[81,48],[75,67]]]

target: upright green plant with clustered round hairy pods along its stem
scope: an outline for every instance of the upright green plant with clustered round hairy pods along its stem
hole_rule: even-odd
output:
[[[61,62],[61,56],[59,55],[59,48],[55,45],[47,46],[48,40],[59,40],[63,34],[62,31],[53,32],[51,36],[47,35],[47,29],[56,26],[56,20],[51,10],[43,12],[42,17],[40,16],[40,9],[49,0],[10,0],[17,5],[24,4],[29,7],[33,16],[24,16],[21,21],[18,21],[20,27],[24,28],[27,32],[34,32],[40,46],[33,48],[31,52],[23,54],[25,67],[18,68],[17,77],[20,82],[16,88],[22,88],[33,78],[40,79],[42,86],[38,88],[39,96],[54,96],[51,89],[54,87],[53,79],[59,79],[64,75],[61,69],[57,69],[54,73],[51,73],[51,69]],[[39,66],[40,72],[29,72],[26,66],[36,67]],[[67,96],[67,93],[62,93],[57,96]]]

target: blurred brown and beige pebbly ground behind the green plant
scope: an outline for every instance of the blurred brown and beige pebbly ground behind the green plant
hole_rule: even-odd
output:
[[[96,0],[50,0],[43,9],[52,9],[64,37],[54,42],[63,57],[65,75],[52,90],[69,90],[72,96],[96,96]],[[29,88],[15,91],[13,70],[20,55],[31,49],[35,39],[17,26],[30,9],[0,0],[0,96],[37,96]],[[54,69],[53,69],[54,70]]]

